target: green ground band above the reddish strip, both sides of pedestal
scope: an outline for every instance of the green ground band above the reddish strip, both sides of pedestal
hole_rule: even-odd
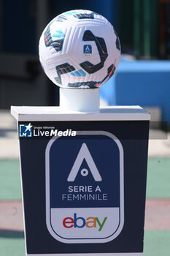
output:
[[[170,159],[149,158],[147,197],[170,197],[169,184]],[[21,200],[20,165],[18,160],[0,161],[0,200]]]

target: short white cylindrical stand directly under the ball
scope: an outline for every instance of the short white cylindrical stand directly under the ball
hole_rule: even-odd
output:
[[[96,89],[60,88],[60,108],[63,111],[99,112],[100,91]]]

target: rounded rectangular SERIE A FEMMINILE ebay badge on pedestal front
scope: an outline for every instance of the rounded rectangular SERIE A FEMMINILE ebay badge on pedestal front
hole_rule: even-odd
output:
[[[46,148],[46,222],[63,243],[105,243],[123,229],[123,147],[104,131],[53,137]]]

